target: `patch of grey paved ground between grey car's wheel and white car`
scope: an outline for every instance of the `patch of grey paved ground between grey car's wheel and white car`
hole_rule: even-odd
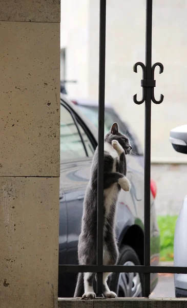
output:
[[[174,275],[159,274],[159,281],[150,298],[175,297]]]

